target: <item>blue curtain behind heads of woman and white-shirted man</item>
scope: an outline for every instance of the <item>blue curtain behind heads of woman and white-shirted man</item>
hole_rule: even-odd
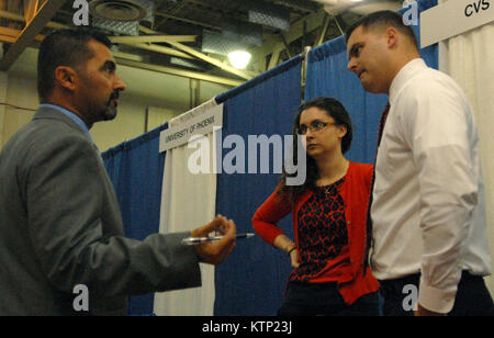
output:
[[[422,12],[437,4],[437,0],[419,0]],[[404,13],[407,9],[398,12]],[[413,26],[419,41],[419,25]],[[420,56],[431,68],[438,68],[437,44],[420,50]],[[353,124],[353,140],[347,158],[373,164],[378,139],[379,119],[386,105],[388,95],[363,91],[360,80],[347,69],[348,57],[345,37],[332,40],[308,53],[305,101],[317,97],[333,97],[341,101]]]

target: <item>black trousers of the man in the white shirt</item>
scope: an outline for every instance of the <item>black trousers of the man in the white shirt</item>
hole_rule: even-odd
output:
[[[380,281],[381,295],[384,297],[384,316],[413,316],[413,309],[404,309],[403,302],[407,303],[405,297],[408,293],[404,292],[403,288],[413,284],[418,290],[419,282],[419,273],[395,280]],[[473,275],[468,271],[462,272],[454,305],[448,315],[494,316],[494,304],[482,277]]]

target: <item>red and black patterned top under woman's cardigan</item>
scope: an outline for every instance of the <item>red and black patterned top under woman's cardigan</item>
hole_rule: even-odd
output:
[[[290,275],[293,282],[332,282],[350,275],[345,202],[339,193],[345,178],[317,187],[299,210],[300,267]]]

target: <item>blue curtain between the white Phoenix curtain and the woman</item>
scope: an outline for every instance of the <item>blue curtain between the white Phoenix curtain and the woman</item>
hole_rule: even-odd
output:
[[[216,98],[225,103],[223,139],[239,135],[245,142],[247,172],[248,135],[291,135],[301,103],[301,57]],[[290,145],[291,146],[291,145]],[[232,149],[224,149],[223,157]],[[259,150],[257,164],[259,168]],[[272,169],[270,150],[270,172]],[[259,169],[258,171],[259,172]],[[237,233],[254,232],[251,217],[273,192],[280,174],[221,173],[217,177],[216,211],[235,221]],[[291,215],[279,226],[293,238]],[[234,252],[215,272],[214,314],[220,316],[276,315],[290,274],[290,260],[260,237],[237,240]]]

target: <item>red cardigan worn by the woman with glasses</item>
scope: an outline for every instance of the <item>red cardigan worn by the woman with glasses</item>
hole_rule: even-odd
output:
[[[350,264],[353,277],[350,283],[338,285],[339,292],[347,304],[352,304],[361,295],[375,292],[379,289],[379,282],[371,274],[369,268],[366,275],[363,275],[367,206],[372,172],[372,166],[350,161],[340,190],[341,198],[346,204],[345,217],[347,221]],[[305,191],[294,203],[291,203],[287,198],[280,199],[278,190],[279,188],[257,210],[252,218],[254,229],[260,237],[272,245],[274,239],[283,234],[276,224],[292,212],[295,244],[299,247],[299,210],[313,195],[313,191]]]

